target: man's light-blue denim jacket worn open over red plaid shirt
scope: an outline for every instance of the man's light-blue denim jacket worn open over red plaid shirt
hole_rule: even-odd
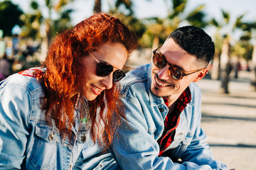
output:
[[[122,169],[227,169],[215,161],[206,142],[201,123],[201,90],[196,84],[189,86],[191,103],[180,115],[174,142],[158,157],[156,142],[164,131],[164,119],[169,111],[163,98],[151,93],[151,64],[130,71],[122,79],[121,98],[125,106],[126,121],[117,130],[112,145]],[[183,164],[169,158],[181,158]]]

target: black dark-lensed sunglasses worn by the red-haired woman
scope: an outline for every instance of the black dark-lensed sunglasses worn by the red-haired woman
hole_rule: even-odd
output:
[[[106,62],[100,62],[97,60],[90,52],[89,54],[96,60],[97,67],[96,67],[96,75],[98,77],[106,77],[108,74],[112,73],[114,70],[114,67],[111,64],[108,64]],[[125,77],[125,73],[118,69],[113,72],[113,83],[119,81],[120,79]]]

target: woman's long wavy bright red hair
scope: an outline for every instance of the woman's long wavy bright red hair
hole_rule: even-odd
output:
[[[43,108],[46,109],[46,120],[50,123],[50,118],[53,118],[60,135],[68,136],[69,139],[72,137],[74,120],[74,103],[70,96],[82,87],[81,57],[97,51],[97,47],[106,42],[124,45],[129,54],[137,47],[137,38],[127,26],[106,13],[97,13],[74,28],[59,33],[50,45],[45,62],[47,70],[41,78],[46,87]],[[106,89],[89,105],[92,138],[106,148],[110,146],[114,129],[120,123],[117,118],[124,116],[117,85],[113,84],[112,89]],[[103,112],[105,108],[107,113]],[[96,118],[97,109],[100,120]],[[100,121],[105,125],[105,132],[100,130]]]

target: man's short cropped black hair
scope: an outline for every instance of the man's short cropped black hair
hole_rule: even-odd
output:
[[[183,26],[174,30],[168,38],[172,38],[183,50],[196,55],[197,60],[208,64],[212,60],[215,46],[210,36],[201,28]]]

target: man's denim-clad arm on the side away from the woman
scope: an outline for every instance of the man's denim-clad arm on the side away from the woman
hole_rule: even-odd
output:
[[[191,84],[193,106],[186,109],[190,124],[190,130],[194,132],[191,143],[181,154],[182,162],[193,162],[198,165],[208,164],[212,169],[227,169],[222,162],[216,161],[206,142],[206,133],[201,128],[201,90],[198,86]],[[188,116],[190,115],[190,116]]]

